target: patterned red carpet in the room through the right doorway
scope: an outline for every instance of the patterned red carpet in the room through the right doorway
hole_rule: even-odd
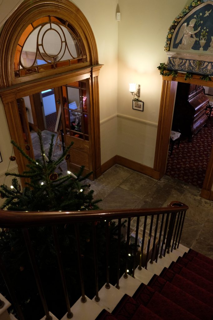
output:
[[[168,155],[166,174],[202,188],[206,168],[213,144],[213,117],[208,118],[206,126],[196,133],[192,142],[182,139],[180,146],[174,146]]]

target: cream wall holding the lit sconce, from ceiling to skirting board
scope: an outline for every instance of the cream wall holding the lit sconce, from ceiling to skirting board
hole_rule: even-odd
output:
[[[186,4],[186,0],[152,3],[145,0],[119,0],[118,115],[125,116],[128,124],[125,121],[125,132],[120,131],[122,127],[118,126],[118,155],[125,154],[126,158],[151,168],[154,165],[156,135],[153,130],[149,132],[150,126],[147,124],[158,123],[162,77],[157,66],[167,61],[164,44],[168,28]],[[132,108],[133,96],[128,86],[130,82],[141,84],[143,112]],[[134,118],[140,120],[135,129],[137,137],[140,137],[137,142],[132,134]],[[141,141],[144,143],[139,156]],[[129,145],[131,153],[128,154]]]

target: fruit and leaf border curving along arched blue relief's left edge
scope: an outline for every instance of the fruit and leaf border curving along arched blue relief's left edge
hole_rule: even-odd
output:
[[[169,51],[172,35],[173,35],[175,29],[177,28],[177,26],[179,25],[180,21],[183,19],[183,17],[188,12],[190,12],[192,9],[194,9],[197,5],[199,5],[203,2],[204,2],[203,0],[192,1],[190,4],[186,5],[186,7],[179,13],[179,15],[175,18],[175,20],[173,20],[171,26],[169,27],[168,34],[166,36],[166,42],[165,42],[165,46],[164,46],[165,51]]]

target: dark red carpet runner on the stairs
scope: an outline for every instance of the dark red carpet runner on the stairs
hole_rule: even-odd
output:
[[[213,319],[213,260],[189,250],[95,320]]]

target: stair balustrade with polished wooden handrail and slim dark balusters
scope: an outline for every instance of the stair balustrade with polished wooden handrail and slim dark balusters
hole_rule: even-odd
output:
[[[123,219],[127,220],[127,228],[125,230],[125,270],[124,270],[124,278],[128,277],[127,272],[130,276],[134,277],[134,271],[137,265],[139,264],[138,269],[143,272],[142,268],[142,259],[144,259],[144,267],[147,268],[148,259],[150,259],[150,263],[153,261],[157,262],[158,258],[162,258],[162,256],[166,253],[169,253],[172,250],[178,248],[180,243],[180,237],[183,229],[184,219],[186,210],[188,206],[182,204],[180,202],[171,202],[168,204],[166,208],[153,208],[153,209],[132,209],[132,210],[96,210],[96,211],[79,211],[79,212],[11,212],[0,210],[0,228],[5,232],[5,230],[10,228],[21,229],[23,232],[23,237],[25,240],[25,244],[27,247],[27,252],[30,257],[32,269],[34,271],[35,281],[37,284],[38,292],[42,301],[44,313],[46,315],[46,319],[52,319],[52,316],[49,313],[49,308],[46,302],[46,297],[44,294],[42,280],[39,274],[38,261],[36,254],[34,252],[31,238],[30,238],[30,228],[35,227],[43,227],[50,226],[52,228],[52,237],[54,239],[56,259],[58,263],[58,268],[60,270],[61,283],[63,286],[65,303],[67,308],[67,318],[72,318],[73,314],[70,308],[70,294],[73,292],[67,292],[67,285],[65,280],[65,272],[63,268],[63,248],[60,244],[60,239],[58,237],[57,228],[60,225],[72,225],[75,230],[75,247],[77,252],[77,260],[78,260],[78,269],[79,269],[79,278],[80,278],[80,286],[81,286],[81,301],[86,302],[85,296],[85,279],[83,272],[83,259],[81,254],[81,243],[80,243],[80,228],[79,226],[83,222],[89,223],[89,228],[91,228],[92,239],[93,239],[93,264],[94,264],[94,288],[95,288],[95,301],[99,301],[100,298],[98,296],[99,291],[99,283],[98,283],[98,252],[97,252],[97,241],[96,241],[96,228],[97,221],[105,222],[105,243],[104,243],[104,253],[105,253],[105,261],[106,261],[106,275],[105,282],[106,288],[110,288],[110,221],[116,220],[118,223],[117,234],[114,238],[117,239],[117,248],[116,248],[116,263],[117,263],[117,284],[116,287],[119,289],[119,278],[120,278],[120,256],[121,256],[121,225]],[[142,218],[143,217],[143,218]],[[135,218],[136,227],[134,232],[131,231],[131,221]],[[140,225],[140,221],[143,220],[142,226]],[[148,222],[149,221],[149,222]],[[154,221],[154,223],[153,223]],[[154,226],[154,227],[153,227]],[[28,229],[29,228],[29,229]],[[142,230],[142,231],[141,231]],[[140,231],[140,232],[139,232]],[[1,231],[2,232],[2,231]],[[132,233],[131,233],[132,232]],[[141,237],[142,232],[142,237]],[[137,241],[132,241],[131,234],[134,234],[134,239]],[[2,236],[2,235],[1,235]],[[138,238],[140,237],[141,243],[138,249]],[[152,246],[150,246],[152,238]],[[146,243],[145,243],[146,241]],[[132,244],[131,244],[132,243]],[[133,247],[133,259],[132,259],[132,267],[130,269],[127,265],[129,258],[129,250],[130,245]],[[145,250],[146,249],[146,250]],[[145,250],[145,257],[144,257]],[[137,253],[140,253],[139,254]],[[136,265],[136,262],[139,263]],[[10,275],[8,274],[7,268],[5,268],[5,257],[0,256],[0,270],[2,276],[4,278],[4,282],[7,286],[9,294],[11,296],[11,300],[14,308],[17,311],[17,314],[20,320],[24,320],[25,317],[22,312],[22,307],[19,303],[19,297],[16,296],[13,284],[10,281]],[[122,271],[123,272],[123,271]],[[79,297],[75,297],[78,300]],[[65,312],[64,312],[65,314]]]

